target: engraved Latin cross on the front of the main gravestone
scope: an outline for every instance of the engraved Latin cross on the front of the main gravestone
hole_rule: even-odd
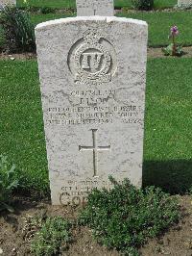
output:
[[[97,145],[97,129],[91,129],[92,131],[92,146],[82,146],[79,145],[79,151],[87,151],[91,150],[93,152],[93,177],[98,177],[97,171],[98,171],[98,151],[106,151],[110,150],[110,145],[107,146],[98,146]]]

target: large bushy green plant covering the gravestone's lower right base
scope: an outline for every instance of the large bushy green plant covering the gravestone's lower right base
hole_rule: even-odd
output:
[[[79,221],[93,230],[99,243],[123,253],[138,255],[148,238],[156,237],[180,218],[177,200],[160,189],[137,190],[129,180],[114,188],[94,190]]]

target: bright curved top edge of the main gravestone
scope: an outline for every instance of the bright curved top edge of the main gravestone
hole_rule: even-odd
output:
[[[51,27],[53,25],[60,25],[63,23],[79,22],[79,21],[106,21],[107,23],[115,21],[115,22],[125,22],[125,23],[140,25],[146,28],[148,27],[147,22],[140,19],[116,17],[116,16],[77,16],[77,17],[60,18],[60,19],[39,23],[36,25],[36,31],[49,26]]]

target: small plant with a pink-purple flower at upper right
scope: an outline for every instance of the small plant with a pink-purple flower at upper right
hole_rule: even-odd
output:
[[[171,33],[169,38],[171,38],[172,42],[165,48],[162,49],[165,55],[171,56],[181,56],[183,54],[182,45],[177,45],[176,38],[179,35],[179,29],[177,26],[171,27]]]

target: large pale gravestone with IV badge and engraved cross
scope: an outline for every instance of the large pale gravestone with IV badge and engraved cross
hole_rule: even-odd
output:
[[[147,24],[76,17],[36,27],[53,204],[142,182]]]

